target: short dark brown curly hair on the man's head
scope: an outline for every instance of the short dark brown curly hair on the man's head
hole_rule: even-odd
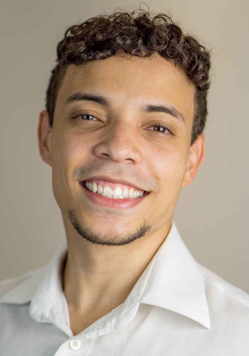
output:
[[[195,114],[191,145],[203,131],[210,85],[210,52],[194,37],[185,35],[166,14],[117,11],[71,26],[57,46],[57,65],[51,72],[46,109],[53,125],[55,101],[65,69],[112,56],[149,57],[159,54],[174,63],[195,85]]]

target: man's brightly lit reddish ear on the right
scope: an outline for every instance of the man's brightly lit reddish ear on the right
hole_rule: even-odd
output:
[[[197,137],[193,145],[190,147],[189,159],[185,171],[182,187],[189,185],[194,179],[198,169],[201,166],[205,155],[205,136],[203,133]]]

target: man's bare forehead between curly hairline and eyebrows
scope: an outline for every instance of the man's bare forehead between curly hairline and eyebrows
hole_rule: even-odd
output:
[[[144,102],[173,105],[186,117],[194,116],[195,87],[175,65],[161,56],[110,57],[82,65],[69,65],[58,93],[63,104],[68,96],[89,91],[109,98],[113,108]]]

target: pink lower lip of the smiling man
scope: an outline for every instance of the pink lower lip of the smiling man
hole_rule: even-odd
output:
[[[80,182],[81,187],[84,189],[84,193],[86,196],[93,201],[95,204],[107,206],[108,208],[116,208],[116,209],[128,209],[140,203],[143,198],[148,194],[144,193],[142,197],[139,198],[125,198],[125,199],[113,199],[102,197],[102,195],[94,192],[90,192],[90,190],[86,189],[83,185],[83,182]]]

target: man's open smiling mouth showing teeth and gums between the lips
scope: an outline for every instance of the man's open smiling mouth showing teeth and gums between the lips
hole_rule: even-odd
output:
[[[141,198],[145,194],[144,190],[125,184],[108,183],[104,180],[84,180],[82,184],[90,192],[111,199]]]

